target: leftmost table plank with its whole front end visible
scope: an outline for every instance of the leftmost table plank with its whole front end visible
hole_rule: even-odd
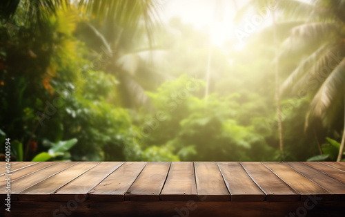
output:
[[[19,200],[49,200],[50,194],[85,173],[99,162],[79,162],[19,193]]]

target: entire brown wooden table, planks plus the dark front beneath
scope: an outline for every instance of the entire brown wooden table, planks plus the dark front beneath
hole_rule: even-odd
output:
[[[0,163],[0,216],[343,216],[345,162]]]

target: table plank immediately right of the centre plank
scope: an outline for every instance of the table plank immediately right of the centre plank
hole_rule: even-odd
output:
[[[216,162],[195,162],[197,196],[200,201],[226,201],[230,194]]]

